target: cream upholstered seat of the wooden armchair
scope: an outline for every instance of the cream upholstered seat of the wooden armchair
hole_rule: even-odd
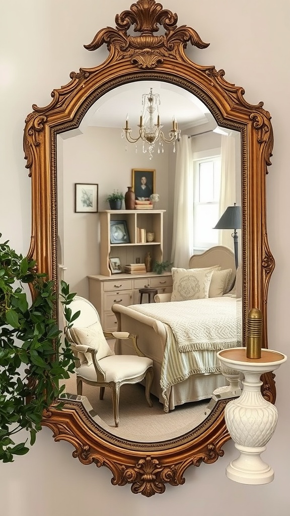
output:
[[[137,357],[137,355],[113,355],[100,360],[99,365],[105,374],[106,382],[124,382],[134,380],[134,378],[138,381],[140,375],[145,375],[147,369],[153,365],[153,361],[147,357]],[[93,364],[89,367],[80,365],[76,374],[86,380],[96,381]]]

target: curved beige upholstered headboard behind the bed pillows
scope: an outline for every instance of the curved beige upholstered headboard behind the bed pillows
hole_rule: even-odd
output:
[[[207,249],[202,254],[194,254],[189,259],[189,269],[213,267],[219,265],[221,269],[232,269],[231,284],[236,277],[235,255],[229,247],[215,246]]]

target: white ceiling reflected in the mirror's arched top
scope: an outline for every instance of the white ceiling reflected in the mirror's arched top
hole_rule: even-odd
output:
[[[136,127],[141,114],[142,94],[149,93],[150,88],[160,95],[160,123],[166,130],[172,127],[174,116],[181,130],[207,124],[208,121],[211,129],[216,126],[210,111],[192,93],[169,83],[148,80],[125,84],[109,91],[90,108],[83,122],[86,125],[121,129],[128,115],[130,126]]]

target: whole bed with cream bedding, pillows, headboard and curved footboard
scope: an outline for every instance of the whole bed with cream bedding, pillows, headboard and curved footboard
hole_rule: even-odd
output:
[[[172,294],[157,294],[155,303],[112,306],[118,331],[137,334],[140,349],[153,360],[151,392],[165,412],[211,398],[227,383],[217,351],[241,345],[241,299],[233,252],[213,247],[192,256],[189,269],[173,268],[172,276]],[[130,342],[116,341],[115,352],[131,354]]]

